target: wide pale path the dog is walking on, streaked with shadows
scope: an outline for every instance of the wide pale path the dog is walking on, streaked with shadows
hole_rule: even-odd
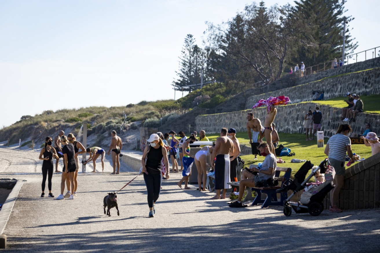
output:
[[[36,166],[36,171],[40,166],[38,160],[25,163]],[[226,200],[209,200],[213,193],[180,189],[176,185],[181,178],[178,173],[163,181],[154,218],[147,217],[142,176],[118,193],[120,216],[116,209],[111,209],[111,217],[106,216],[104,196],[119,190],[136,175],[136,172],[81,173],[78,197],[55,200],[40,198],[41,174],[1,173],[1,178],[27,180],[4,231],[8,239],[4,252],[379,252],[380,249],[379,209],[285,217],[282,207],[230,208]],[[52,192],[57,196],[60,173],[54,174],[52,182]]]

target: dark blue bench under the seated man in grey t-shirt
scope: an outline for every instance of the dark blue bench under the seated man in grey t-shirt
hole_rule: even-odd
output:
[[[280,177],[280,173],[285,172],[285,174]],[[284,200],[288,198],[288,193],[276,193],[277,189],[280,189],[282,187],[283,182],[285,182],[287,179],[290,178],[291,174],[291,168],[285,168],[285,167],[277,167],[275,177],[278,179],[281,184],[278,186],[273,187],[253,187],[251,190],[255,191],[257,193],[256,198],[252,202],[252,206],[257,204],[262,204],[261,208],[268,207],[268,206],[282,206],[284,203]],[[266,199],[261,199],[261,194],[265,193]],[[277,199],[277,194],[280,194],[280,200]]]

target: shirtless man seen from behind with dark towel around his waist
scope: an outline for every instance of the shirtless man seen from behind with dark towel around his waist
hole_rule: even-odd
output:
[[[214,151],[212,151],[211,160],[214,165],[216,190],[216,195],[211,198],[212,200],[226,198],[227,189],[231,188],[228,184],[230,182],[230,151],[234,152],[234,144],[226,135],[227,129],[223,127],[220,137],[216,139]],[[222,196],[220,196],[220,190],[223,190]]]

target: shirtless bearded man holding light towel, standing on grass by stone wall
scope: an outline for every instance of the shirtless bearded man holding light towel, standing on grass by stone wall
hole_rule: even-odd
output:
[[[252,148],[252,154],[255,155],[255,160],[257,160],[257,155],[260,154],[258,150],[258,145],[260,145],[261,139],[263,138],[263,126],[261,126],[260,119],[253,118],[253,113],[247,113],[247,132],[249,137],[249,143]],[[251,132],[252,131],[252,132]]]

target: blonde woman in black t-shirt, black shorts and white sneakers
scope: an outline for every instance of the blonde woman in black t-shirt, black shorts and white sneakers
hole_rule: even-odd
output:
[[[65,135],[61,136],[61,144],[63,145],[62,148],[62,154],[63,154],[63,159],[64,159],[64,165],[63,165],[63,170],[62,170],[62,178],[61,178],[61,194],[57,197],[57,200],[63,200],[63,191],[65,190],[65,181],[67,176],[70,177],[70,197],[69,200],[74,199],[74,189],[75,189],[75,184],[74,184],[74,175],[76,171],[76,163],[75,163],[75,151],[74,151],[74,145],[69,143],[67,140],[67,137]]]

